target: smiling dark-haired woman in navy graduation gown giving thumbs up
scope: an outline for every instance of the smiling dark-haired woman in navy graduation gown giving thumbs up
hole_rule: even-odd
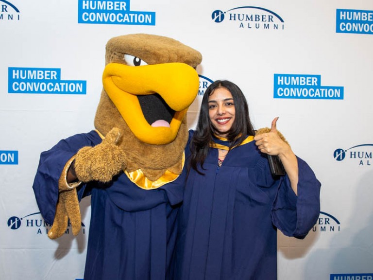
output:
[[[320,182],[280,139],[276,121],[254,137],[242,91],[229,81],[206,89],[190,132],[171,279],[275,280],[277,228],[302,239],[316,223]],[[285,176],[271,175],[267,154],[280,158]]]

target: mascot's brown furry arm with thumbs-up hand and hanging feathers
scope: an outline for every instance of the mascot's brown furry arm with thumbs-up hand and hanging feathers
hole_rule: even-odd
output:
[[[66,163],[58,181],[59,197],[49,238],[62,236],[68,226],[77,235],[82,225],[79,199],[76,191],[81,182],[92,180],[109,182],[126,168],[126,159],[118,147],[121,133],[113,128],[102,142],[94,147],[85,146]]]

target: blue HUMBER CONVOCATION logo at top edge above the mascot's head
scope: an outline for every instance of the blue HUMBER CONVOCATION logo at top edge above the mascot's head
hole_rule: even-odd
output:
[[[130,10],[130,0],[79,0],[78,23],[155,25],[155,12]]]

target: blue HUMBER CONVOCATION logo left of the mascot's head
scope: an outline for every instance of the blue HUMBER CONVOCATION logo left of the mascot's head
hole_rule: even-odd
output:
[[[61,80],[58,68],[8,68],[9,93],[86,94],[86,81]]]

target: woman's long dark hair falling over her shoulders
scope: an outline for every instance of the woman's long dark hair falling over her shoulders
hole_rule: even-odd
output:
[[[191,167],[200,174],[203,173],[198,170],[197,166],[200,163],[203,169],[203,162],[207,157],[209,144],[213,139],[213,135],[216,133],[216,129],[212,125],[209,117],[208,97],[213,94],[214,90],[217,88],[228,89],[232,94],[235,104],[235,121],[227,134],[230,148],[239,145],[247,138],[247,136],[255,135],[249,117],[249,107],[241,89],[238,88],[236,84],[227,80],[217,80],[212,83],[208,88],[206,88],[203,94],[196,131],[194,132],[193,138],[190,142],[191,156],[189,169]]]

